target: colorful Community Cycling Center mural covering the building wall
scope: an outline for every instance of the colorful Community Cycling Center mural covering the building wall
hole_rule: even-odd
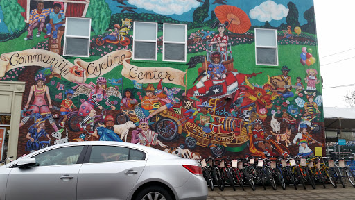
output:
[[[324,146],[312,1],[0,6],[0,80],[26,82],[18,156],[92,140],[196,159],[308,156]],[[66,16],[92,18],[89,58],[61,56]],[[138,21],[158,23],[157,61],[132,59]],[[186,63],[162,61],[163,23],[187,24]],[[254,28],[277,30],[277,66],[255,64]]]

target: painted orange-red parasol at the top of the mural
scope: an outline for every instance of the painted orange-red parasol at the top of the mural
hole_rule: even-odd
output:
[[[233,33],[245,33],[252,26],[248,15],[236,6],[217,6],[214,12],[220,23],[229,23],[227,29]]]

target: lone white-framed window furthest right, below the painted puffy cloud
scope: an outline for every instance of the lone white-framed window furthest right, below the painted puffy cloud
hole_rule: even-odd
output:
[[[279,65],[277,30],[255,28],[255,60],[257,65]]]

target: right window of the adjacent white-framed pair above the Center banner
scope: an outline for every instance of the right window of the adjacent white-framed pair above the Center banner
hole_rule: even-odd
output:
[[[163,61],[186,62],[186,24],[163,24]]]

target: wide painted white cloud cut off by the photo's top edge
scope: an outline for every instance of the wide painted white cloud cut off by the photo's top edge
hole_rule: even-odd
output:
[[[130,0],[128,3],[160,15],[182,15],[200,6],[196,0]]]

